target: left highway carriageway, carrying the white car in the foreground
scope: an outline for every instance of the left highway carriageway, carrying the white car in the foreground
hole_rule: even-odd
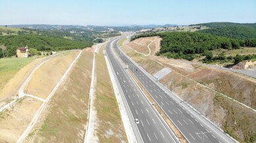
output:
[[[129,73],[125,71],[121,63],[119,63],[117,57],[113,55],[113,47],[116,47],[117,40],[108,42],[106,45],[106,55],[110,61],[110,65],[117,77],[117,82],[121,86],[125,100],[129,105],[129,109],[133,116],[130,120],[131,124],[137,126],[139,134],[143,142],[176,142],[170,132],[166,129],[163,123],[160,121],[158,115],[153,111],[152,107],[144,98],[141,90],[137,88],[137,85],[129,76]],[[129,111],[129,110],[127,110]],[[139,119],[139,124],[135,123],[135,119]]]

